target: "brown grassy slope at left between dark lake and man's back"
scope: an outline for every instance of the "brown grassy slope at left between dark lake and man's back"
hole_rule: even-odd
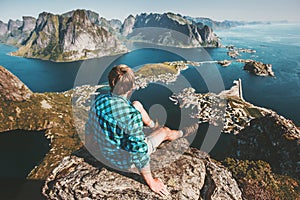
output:
[[[51,149],[28,174],[29,179],[45,179],[63,157],[82,146],[74,128],[71,96],[32,93],[3,67],[0,77],[0,133],[17,129],[45,131]]]

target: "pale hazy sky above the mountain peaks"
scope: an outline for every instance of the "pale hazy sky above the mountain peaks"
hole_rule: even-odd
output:
[[[62,14],[75,9],[121,21],[130,14],[173,12],[217,21],[300,22],[300,0],[0,0],[0,20],[37,18],[43,11]]]

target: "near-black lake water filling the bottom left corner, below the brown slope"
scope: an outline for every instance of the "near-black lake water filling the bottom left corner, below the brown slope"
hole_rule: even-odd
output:
[[[0,194],[2,199],[44,199],[43,181],[26,180],[50,150],[44,131],[14,130],[0,134]]]

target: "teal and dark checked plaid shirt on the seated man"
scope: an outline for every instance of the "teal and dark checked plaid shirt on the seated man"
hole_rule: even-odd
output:
[[[132,164],[142,169],[149,163],[142,115],[126,98],[114,94],[96,97],[86,130],[97,141],[105,164],[128,170]]]

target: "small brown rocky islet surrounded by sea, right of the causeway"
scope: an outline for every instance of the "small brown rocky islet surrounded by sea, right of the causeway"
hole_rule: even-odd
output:
[[[264,64],[258,61],[247,61],[244,66],[244,70],[257,76],[274,76],[271,64]]]

